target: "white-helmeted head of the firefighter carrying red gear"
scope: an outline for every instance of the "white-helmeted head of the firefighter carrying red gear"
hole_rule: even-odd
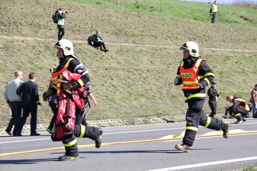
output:
[[[71,41],[62,39],[58,41],[55,45],[55,48],[58,49],[56,56],[61,59],[62,57],[73,55],[73,44]]]

